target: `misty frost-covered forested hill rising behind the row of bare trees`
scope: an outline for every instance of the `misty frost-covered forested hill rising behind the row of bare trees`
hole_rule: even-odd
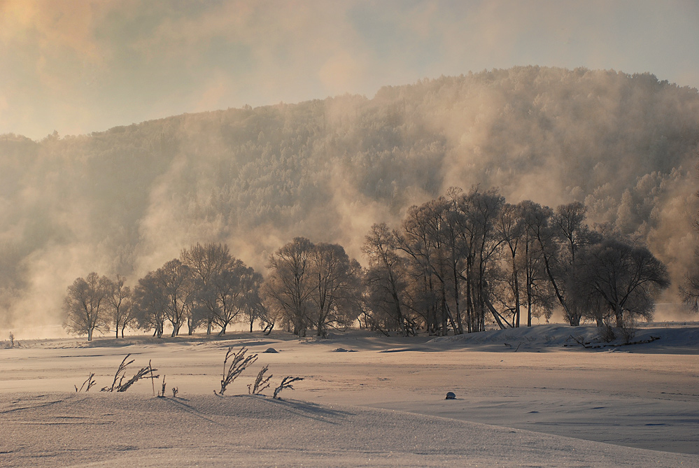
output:
[[[648,73],[518,67],[384,87],[373,99],[185,114],[82,136],[0,136],[5,325],[48,314],[90,271],[133,283],[197,241],[264,273],[293,236],[362,260],[374,222],[457,185],[579,200],[679,280],[693,261],[699,94]],[[0,321],[0,325],[3,322]]]

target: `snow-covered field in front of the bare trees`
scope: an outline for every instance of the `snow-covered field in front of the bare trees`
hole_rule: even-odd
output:
[[[649,325],[630,346],[596,333],[0,342],[0,466],[699,467],[699,325]],[[258,359],[218,397],[230,345]],[[150,380],[99,392],[129,353],[127,378],[150,360],[167,397]],[[264,364],[273,387],[304,380],[247,395]]]

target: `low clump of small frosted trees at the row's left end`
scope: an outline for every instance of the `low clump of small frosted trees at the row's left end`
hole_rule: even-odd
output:
[[[177,336],[183,325],[188,334],[206,326],[223,335],[235,321],[247,320],[250,332],[256,319],[264,320],[259,296],[262,275],[231,255],[227,246],[197,243],[182,250],[180,258],[150,271],[132,290],[123,278],[97,273],[76,278],[64,299],[64,327],[92,339],[94,330],[113,327],[124,336],[126,327],[153,330],[162,337],[166,323]]]

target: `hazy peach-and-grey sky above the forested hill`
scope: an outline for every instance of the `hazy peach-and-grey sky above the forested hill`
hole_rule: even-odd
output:
[[[699,87],[699,1],[0,0],[0,134],[530,64]]]

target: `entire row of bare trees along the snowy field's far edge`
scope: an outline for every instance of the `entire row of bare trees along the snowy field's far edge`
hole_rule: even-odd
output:
[[[220,243],[197,243],[141,278],[77,278],[64,300],[66,329],[92,338],[113,326],[172,336],[234,322],[276,324],[298,336],[360,327],[403,336],[444,335],[486,325],[519,327],[563,311],[570,325],[628,328],[650,320],[654,297],[668,288],[665,265],[637,239],[609,225],[586,224],[584,204],[555,209],[509,204],[497,190],[448,194],[412,206],[400,226],[375,224],[362,246],[362,269],[342,246],[297,237],[270,255],[262,275]]]

